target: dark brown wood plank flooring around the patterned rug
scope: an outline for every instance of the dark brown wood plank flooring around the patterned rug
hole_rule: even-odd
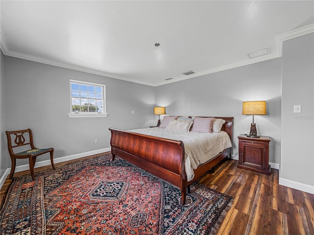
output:
[[[278,170],[264,175],[238,168],[235,160],[218,164],[215,172],[202,177],[200,183],[234,198],[218,235],[314,235],[314,195],[281,186],[278,177]],[[6,179],[0,190],[1,202],[10,182]]]

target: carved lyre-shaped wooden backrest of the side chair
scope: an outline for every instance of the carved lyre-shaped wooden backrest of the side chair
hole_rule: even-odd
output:
[[[28,133],[29,141],[28,140],[26,141],[27,137],[24,136],[25,133]],[[35,148],[33,143],[33,135],[30,129],[20,131],[6,131],[5,134],[8,140],[8,150],[10,155],[14,154],[13,148],[20,147],[23,145],[29,144],[31,148]],[[12,141],[11,135],[15,136],[14,141]]]

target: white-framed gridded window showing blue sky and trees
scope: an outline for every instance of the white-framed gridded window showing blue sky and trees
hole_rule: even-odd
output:
[[[70,80],[69,117],[105,115],[105,85]]]

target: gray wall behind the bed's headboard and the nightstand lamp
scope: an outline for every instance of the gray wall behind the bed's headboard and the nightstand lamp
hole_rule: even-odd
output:
[[[156,104],[167,115],[234,117],[237,136],[249,133],[252,116],[242,115],[242,102],[266,100],[267,115],[255,116],[259,135],[270,136],[269,162],[280,162],[281,58],[207,74],[156,88]]]

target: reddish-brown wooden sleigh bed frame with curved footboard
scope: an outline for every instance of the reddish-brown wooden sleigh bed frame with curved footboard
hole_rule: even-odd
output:
[[[233,141],[233,119],[216,117],[226,120],[222,126]],[[181,189],[181,204],[185,204],[189,186],[198,178],[206,174],[220,161],[231,157],[232,147],[227,148],[208,162],[201,164],[194,170],[194,178],[187,181],[184,166],[183,141],[169,140],[154,136],[133,133],[124,130],[109,128],[111,131],[112,161],[119,156],[131,164],[177,186]]]

